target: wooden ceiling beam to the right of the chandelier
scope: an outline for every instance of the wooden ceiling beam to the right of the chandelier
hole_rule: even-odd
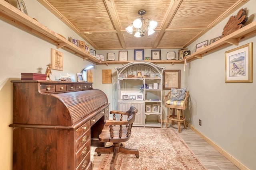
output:
[[[166,16],[163,20],[161,31],[158,33],[158,35],[156,37],[156,41],[154,42],[153,48],[156,48],[158,46],[158,44],[160,43],[162,37],[164,36],[165,29],[167,29],[168,26],[170,25],[172,18],[176,14],[181,2],[182,2],[182,0],[173,0],[171,2],[170,6],[168,8],[168,11],[166,13]]]

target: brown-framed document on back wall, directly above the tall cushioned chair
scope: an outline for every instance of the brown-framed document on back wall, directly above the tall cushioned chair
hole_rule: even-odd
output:
[[[180,70],[164,70],[164,90],[180,88]]]

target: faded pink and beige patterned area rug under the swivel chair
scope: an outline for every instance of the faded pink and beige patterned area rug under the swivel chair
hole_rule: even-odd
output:
[[[132,127],[123,144],[138,149],[140,157],[119,153],[116,170],[206,170],[174,129]],[[106,154],[100,170],[109,170],[111,159],[112,153]]]

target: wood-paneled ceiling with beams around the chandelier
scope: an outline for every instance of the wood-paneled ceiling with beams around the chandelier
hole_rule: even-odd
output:
[[[38,0],[96,50],[180,49],[248,1]],[[143,17],[157,21],[158,26],[154,34],[137,38],[125,28],[139,17],[141,9],[146,10]]]

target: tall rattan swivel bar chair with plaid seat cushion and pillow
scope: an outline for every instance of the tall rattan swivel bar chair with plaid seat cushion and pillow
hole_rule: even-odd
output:
[[[175,89],[175,90],[179,91],[180,89]],[[182,90],[180,90],[180,91],[182,91]],[[186,117],[184,116],[184,110],[187,108],[189,94],[188,94],[188,91],[186,91],[186,89],[183,89],[183,91],[184,91],[184,94],[183,94],[184,99],[182,98],[182,100],[173,100],[172,91],[170,91],[166,96],[164,96],[164,106],[167,108],[170,108],[168,111],[166,128],[168,127],[169,120],[171,120],[172,125],[174,125],[174,122],[177,122],[179,133],[181,133],[180,123],[183,123],[184,128],[187,129],[186,128]],[[175,97],[177,97],[177,96],[175,96]]]

